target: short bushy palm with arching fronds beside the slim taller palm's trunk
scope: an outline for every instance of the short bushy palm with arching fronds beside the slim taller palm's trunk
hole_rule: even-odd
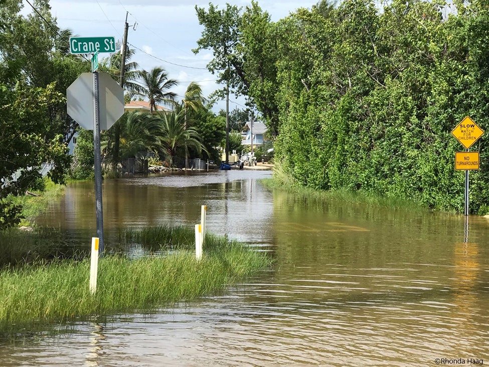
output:
[[[170,113],[161,113],[163,136],[160,138],[161,145],[166,149],[169,156],[170,164],[172,157],[177,155],[179,148],[184,148],[188,154],[189,147],[194,148],[197,152],[206,151],[201,142],[199,133],[192,128],[185,129],[184,119],[185,110],[172,111]],[[207,151],[206,151],[207,152]]]

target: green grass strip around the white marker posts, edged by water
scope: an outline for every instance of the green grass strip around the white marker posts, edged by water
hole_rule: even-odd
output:
[[[172,229],[166,228],[166,235],[168,231]],[[176,229],[179,235],[182,232],[182,228]],[[191,236],[193,231],[187,232],[185,235]],[[127,235],[139,234],[132,230]],[[171,234],[160,240],[167,243],[163,247],[170,242],[174,243]],[[90,294],[88,287],[89,259],[5,267],[0,270],[0,330],[12,331],[29,323],[150,310],[167,302],[220,292],[270,265],[267,255],[223,237],[206,237],[200,261],[190,250],[193,247],[192,242],[181,242],[166,255],[137,259],[107,255],[99,262],[95,295]]]

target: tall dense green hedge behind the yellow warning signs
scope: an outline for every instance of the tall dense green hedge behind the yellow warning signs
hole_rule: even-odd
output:
[[[378,11],[351,0],[278,22],[276,151],[294,181],[462,211],[454,153],[463,148],[449,133],[467,114],[487,131],[489,114],[489,12],[477,4],[459,3],[457,15],[442,2]],[[486,139],[474,147],[481,162]],[[485,187],[487,168],[471,184]],[[486,214],[488,191],[471,194],[471,212]]]

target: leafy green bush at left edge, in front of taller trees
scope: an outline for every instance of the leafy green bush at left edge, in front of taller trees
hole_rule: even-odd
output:
[[[41,174],[38,168],[54,163],[49,177],[64,183],[64,172],[70,164],[63,137],[51,129],[49,109],[63,100],[54,84],[47,88],[28,88],[17,84],[10,90],[0,84],[0,229],[19,223],[21,206],[7,197],[21,195],[37,186]],[[19,172],[16,180],[11,178]]]

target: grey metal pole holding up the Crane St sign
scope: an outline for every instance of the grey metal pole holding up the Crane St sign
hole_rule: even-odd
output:
[[[104,251],[102,214],[102,162],[100,158],[100,90],[98,72],[93,74],[93,146],[95,160],[95,213],[97,218],[97,237],[99,254]]]

